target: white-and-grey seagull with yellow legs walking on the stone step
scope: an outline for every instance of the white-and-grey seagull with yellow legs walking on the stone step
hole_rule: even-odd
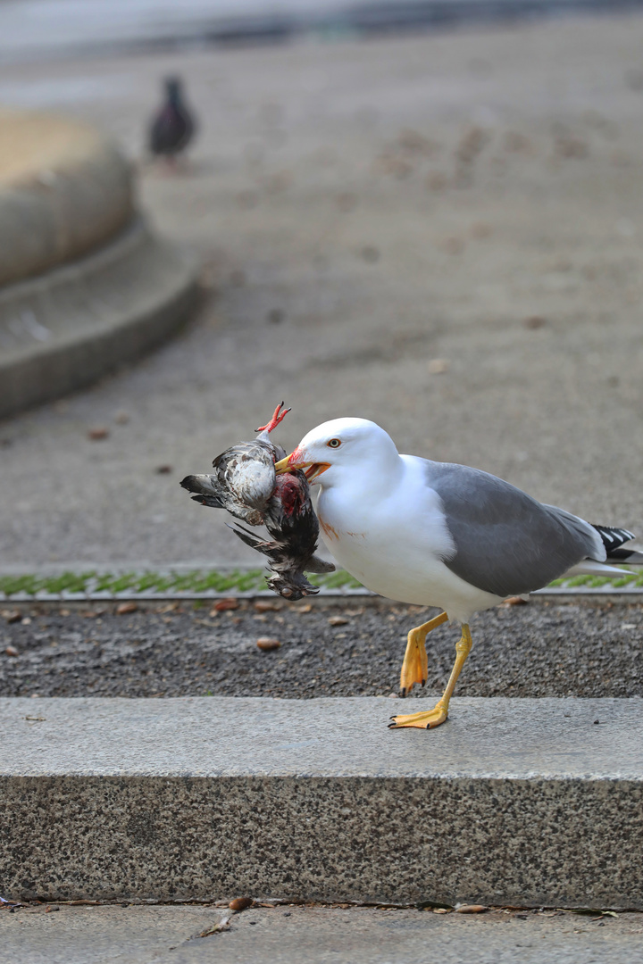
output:
[[[446,688],[433,710],[392,716],[391,728],[433,729],[471,649],[469,620],[508,597],[541,589],[571,569],[613,575],[607,563],[643,563],[621,549],[627,529],[592,525],[480,469],[400,455],[387,432],[364,418],[336,418],[308,432],[281,459],[319,486],[317,516],[336,561],[364,586],[442,613],[411,629],[400,676],[406,696],[427,679],[427,634],[462,625]]]

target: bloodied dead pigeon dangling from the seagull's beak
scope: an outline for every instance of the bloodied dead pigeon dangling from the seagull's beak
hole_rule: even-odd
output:
[[[187,475],[181,486],[195,493],[193,499],[211,508],[227,509],[230,515],[249,525],[265,525],[271,539],[250,532],[243,526],[230,526],[232,531],[269,560],[273,571],[268,577],[270,588],[291,601],[312,596],[319,587],[304,575],[333,572],[333,563],[314,553],[319,539],[319,522],[310,500],[308,480],[299,469],[275,472],[275,463],[285,455],[281,445],[270,439],[270,433],[290,410],[283,402],[267,425],[256,431],[253,442],[237,442],[212,463],[211,475]]]

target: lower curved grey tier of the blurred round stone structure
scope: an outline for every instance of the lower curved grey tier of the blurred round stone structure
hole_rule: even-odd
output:
[[[195,300],[194,259],[154,238],[139,219],[96,253],[5,286],[0,417],[137,358],[173,331]]]

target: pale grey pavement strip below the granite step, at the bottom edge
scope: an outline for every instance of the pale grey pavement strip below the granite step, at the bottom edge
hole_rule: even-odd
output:
[[[255,907],[228,930],[211,906],[30,907],[0,911],[0,941],[19,964],[639,964],[640,914],[492,911],[469,917],[361,907]]]

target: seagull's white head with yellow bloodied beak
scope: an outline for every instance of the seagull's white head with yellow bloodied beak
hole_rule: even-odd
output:
[[[386,474],[397,466],[398,459],[394,442],[375,422],[334,418],[308,432],[275,469],[303,469],[308,482],[318,481],[322,488],[329,488],[347,473]]]

